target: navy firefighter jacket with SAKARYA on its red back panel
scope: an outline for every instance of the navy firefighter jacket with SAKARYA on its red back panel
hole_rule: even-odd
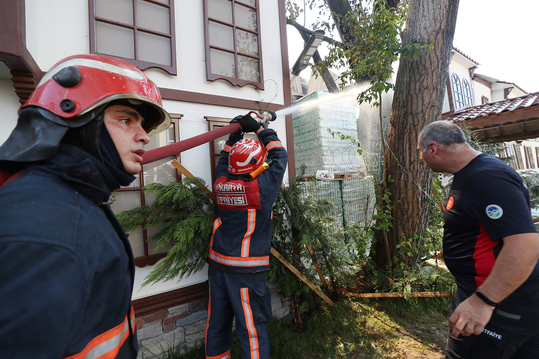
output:
[[[206,262],[225,272],[254,273],[269,269],[272,206],[284,177],[287,153],[272,129],[258,134],[273,163],[254,180],[228,171],[229,152],[243,138],[233,132],[215,169],[213,184],[217,214]],[[241,200],[237,200],[240,198]]]

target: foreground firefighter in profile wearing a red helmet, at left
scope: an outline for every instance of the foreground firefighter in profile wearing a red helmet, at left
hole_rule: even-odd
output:
[[[0,357],[136,358],[135,265],[107,204],[170,116],[151,80],[101,55],[61,60],[0,147]]]

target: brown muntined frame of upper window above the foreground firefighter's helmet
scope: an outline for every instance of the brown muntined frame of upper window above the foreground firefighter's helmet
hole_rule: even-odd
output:
[[[157,32],[153,30],[144,29],[143,27],[136,26],[136,2],[137,0],[133,0],[133,24],[135,25],[129,25],[124,23],[115,22],[113,20],[105,19],[102,17],[95,16],[95,0],[88,0],[88,16],[89,16],[89,27],[90,27],[90,53],[91,54],[100,54],[100,55],[106,55],[110,56],[112,58],[120,59],[129,62],[130,64],[133,64],[134,66],[140,68],[141,70],[145,70],[147,68],[160,68],[163,71],[166,71],[170,75],[177,75],[176,71],[176,36],[175,36],[175,29],[174,29],[174,0],[169,0],[170,4],[164,4],[158,1],[154,0],[144,0],[149,3],[153,3],[156,5],[164,6],[169,8],[169,14],[170,14],[170,34],[165,34],[162,32]],[[112,25],[118,25],[122,27],[127,27],[128,29],[133,29],[134,31],[134,46],[135,46],[135,59],[128,59],[128,58],[122,58],[119,56],[109,55],[109,54],[102,54],[96,51],[96,41],[95,41],[95,21],[98,20],[103,23],[108,23]],[[137,46],[138,41],[138,35],[137,30],[147,32],[150,34],[155,34],[163,37],[168,37],[170,39],[170,64],[168,65],[162,65],[162,64],[155,64],[154,62],[147,62],[147,61],[141,61],[138,60],[139,57],[139,48]]]

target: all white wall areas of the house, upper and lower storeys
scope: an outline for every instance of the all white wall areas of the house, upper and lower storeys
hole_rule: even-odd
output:
[[[73,54],[89,53],[88,0],[26,0],[26,47],[42,71],[48,71],[56,62]],[[260,1],[260,31],[262,44],[262,72],[265,90],[257,90],[251,85],[232,86],[224,80],[206,80],[205,38],[203,2],[176,0],[176,65],[177,76],[169,75],[161,69],[144,71],[158,87],[190,91],[194,93],[227,96],[245,100],[284,104],[282,74],[281,34],[279,24],[279,4],[277,1]],[[0,111],[3,116],[0,143],[15,127],[18,97],[10,80],[9,70],[2,77],[5,65],[0,62]],[[163,101],[163,107],[174,114],[182,114],[179,119],[179,139],[187,139],[208,131],[204,116],[233,118],[250,110],[223,105],[205,105],[181,101]],[[278,118],[270,125],[277,130],[286,147],[285,118]],[[210,149],[203,144],[181,154],[182,164],[188,170],[211,184],[212,168]],[[288,171],[285,179],[288,178]],[[140,288],[144,278],[155,266],[136,268],[133,299],[147,297],[176,288],[201,283],[207,279],[202,271],[189,278],[180,278]]]

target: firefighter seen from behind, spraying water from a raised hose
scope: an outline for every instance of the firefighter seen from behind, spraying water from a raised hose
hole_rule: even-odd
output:
[[[264,271],[269,269],[272,206],[285,174],[287,153],[277,133],[265,124],[248,115],[232,122],[236,121],[241,129],[231,133],[221,151],[213,185],[218,211],[206,259],[206,358],[230,358],[236,316],[241,358],[268,359],[271,300]],[[243,139],[241,130],[257,133],[261,143]],[[250,176],[265,164],[270,165],[264,172]]]

